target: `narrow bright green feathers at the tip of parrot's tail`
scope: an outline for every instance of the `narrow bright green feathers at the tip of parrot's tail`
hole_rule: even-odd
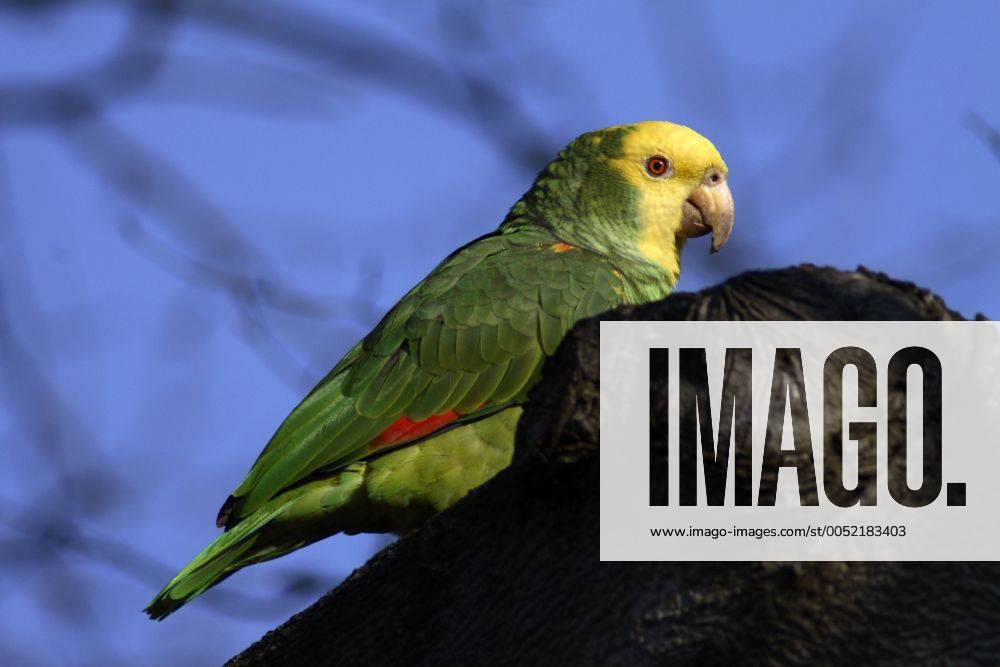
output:
[[[162,620],[241,567],[266,560],[260,557],[262,554],[252,551],[254,543],[261,529],[294,502],[287,500],[277,506],[264,506],[215,538],[153,598],[145,609],[149,617]],[[268,554],[271,558],[274,555]]]

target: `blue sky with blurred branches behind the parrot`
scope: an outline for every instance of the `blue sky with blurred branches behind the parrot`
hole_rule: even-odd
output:
[[[1000,3],[330,4],[0,8],[2,664],[216,664],[385,544],[140,613],[303,393],[583,131],[725,156],[736,230],[682,289],[864,264],[1000,310]]]

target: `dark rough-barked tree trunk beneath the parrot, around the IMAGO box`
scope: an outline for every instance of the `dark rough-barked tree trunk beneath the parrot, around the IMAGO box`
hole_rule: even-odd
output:
[[[603,319],[960,319],[864,269],[748,273]],[[598,560],[598,323],[567,337],[514,464],[233,665],[997,664],[1000,567]]]

